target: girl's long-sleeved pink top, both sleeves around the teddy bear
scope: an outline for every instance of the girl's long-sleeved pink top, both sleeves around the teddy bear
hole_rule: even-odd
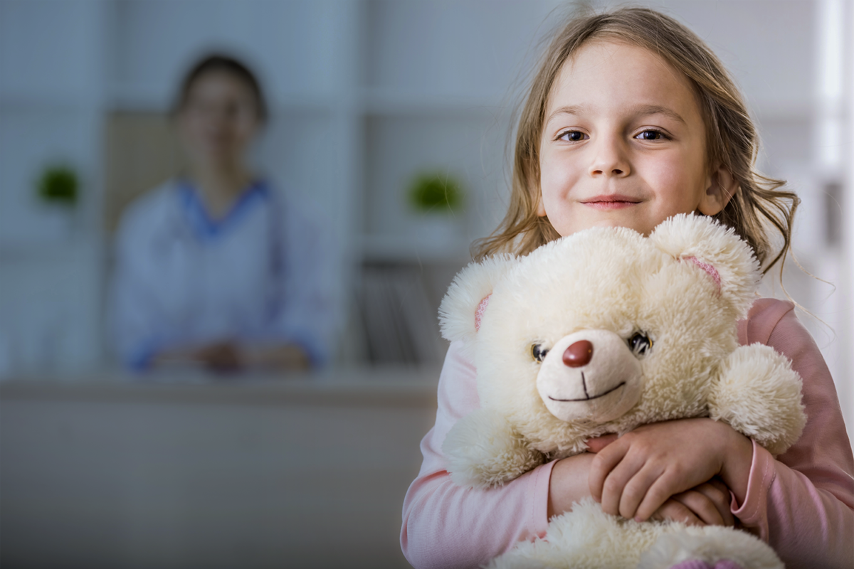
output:
[[[854,566],[854,457],[833,379],[793,305],[759,299],[739,322],[740,343],[761,342],[792,360],[804,380],[808,421],[797,444],[776,459],[753,445],[741,523],[769,542],[788,569]],[[421,441],[424,463],[403,502],[401,548],[412,566],[473,567],[522,539],[543,536],[554,462],[500,488],[466,490],[444,469],[442,441],[477,409],[476,370],[451,345],[439,379],[436,426]]]

